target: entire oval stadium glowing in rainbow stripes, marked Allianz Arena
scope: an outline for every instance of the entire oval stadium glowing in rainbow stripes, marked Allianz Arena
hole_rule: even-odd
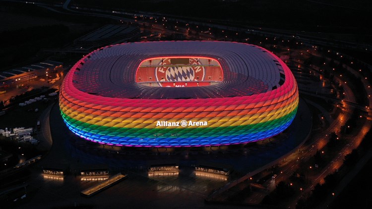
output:
[[[138,147],[219,146],[284,131],[297,84],[273,53],[234,42],[107,46],[67,73],[60,109],[81,138]]]

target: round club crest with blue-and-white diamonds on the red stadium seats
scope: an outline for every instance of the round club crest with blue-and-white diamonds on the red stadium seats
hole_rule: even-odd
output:
[[[161,87],[185,87],[187,82],[190,82],[188,85],[192,85],[193,82],[204,80],[205,68],[200,66],[197,58],[189,58],[185,66],[172,64],[171,58],[162,59],[158,65],[164,65],[155,69],[155,77]],[[197,83],[194,85],[197,86]]]

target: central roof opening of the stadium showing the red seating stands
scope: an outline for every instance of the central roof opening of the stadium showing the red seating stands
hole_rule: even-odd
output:
[[[220,63],[209,57],[156,57],[140,63],[135,81],[153,87],[210,86],[223,81],[223,71]]]

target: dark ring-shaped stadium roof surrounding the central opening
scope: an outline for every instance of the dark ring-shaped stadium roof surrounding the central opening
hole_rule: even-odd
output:
[[[224,79],[212,86],[164,88],[135,82],[141,61],[155,57],[210,57]],[[95,50],[75,64],[73,85],[80,91],[112,98],[197,99],[237,97],[271,91],[285,74],[278,57],[267,50],[234,42],[140,42]]]

